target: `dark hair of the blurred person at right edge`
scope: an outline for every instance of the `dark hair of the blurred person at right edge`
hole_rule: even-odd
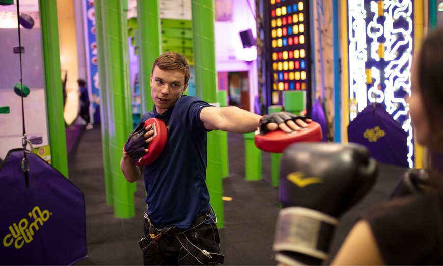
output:
[[[443,130],[443,27],[425,37],[419,53],[418,83],[431,132]]]

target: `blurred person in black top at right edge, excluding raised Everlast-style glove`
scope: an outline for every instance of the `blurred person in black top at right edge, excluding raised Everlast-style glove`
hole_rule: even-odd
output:
[[[424,39],[412,60],[411,94],[407,99],[415,139],[430,151],[443,151],[441,44],[443,28]],[[391,198],[363,214],[334,264],[443,264],[443,189],[439,174],[425,169],[407,171]]]

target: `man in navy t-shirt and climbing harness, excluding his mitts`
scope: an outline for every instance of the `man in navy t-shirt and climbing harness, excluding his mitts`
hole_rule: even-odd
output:
[[[189,78],[189,63],[180,53],[166,52],[154,61],[154,108],[142,116],[141,122],[153,117],[162,120],[168,128],[168,140],[159,157],[145,167],[133,164],[125,152],[120,161],[129,182],[139,180],[142,173],[145,180],[146,237],[140,242],[145,265],[223,262],[205,183],[207,132],[254,132],[262,118],[238,107],[214,107],[197,97],[183,95]],[[154,134],[151,126],[145,128],[148,143]],[[291,132],[291,128],[306,126],[297,119],[296,123],[269,123],[267,129]]]

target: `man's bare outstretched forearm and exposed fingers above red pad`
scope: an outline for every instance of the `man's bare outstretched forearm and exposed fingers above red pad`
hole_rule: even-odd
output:
[[[223,130],[234,133],[249,133],[257,130],[260,119],[263,116],[251,113],[249,111],[240,109],[236,106],[228,107],[205,107],[200,112],[200,119],[208,130]],[[309,120],[310,121],[310,120]],[[293,130],[300,130],[301,127],[308,126],[301,119],[294,121],[287,121],[281,123],[279,126],[276,123],[268,124],[270,131],[282,129],[290,133]]]

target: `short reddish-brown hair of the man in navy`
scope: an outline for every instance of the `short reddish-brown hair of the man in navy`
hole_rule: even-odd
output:
[[[184,55],[177,52],[165,52],[154,61],[154,65],[152,66],[152,72],[154,72],[154,68],[157,66],[162,71],[167,70],[178,70],[179,72],[185,75],[185,85],[189,82],[191,77],[191,72],[189,70],[189,62]]]

